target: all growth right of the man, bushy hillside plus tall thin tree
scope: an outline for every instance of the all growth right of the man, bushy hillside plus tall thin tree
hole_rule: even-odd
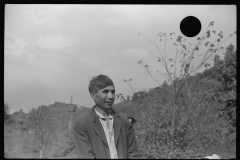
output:
[[[222,31],[216,34],[211,29],[213,24],[210,22],[193,43],[177,36],[175,50],[167,50],[166,45],[174,39],[174,32],[157,35],[163,49],[139,34],[157,49],[158,55],[151,54],[166,71],[162,74],[157,70],[155,76],[140,60],[138,63],[159,86],[147,93],[135,92],[131,102],[122,94],[117,96],[137,111],[136,131],[144,158],[197,158],[211,152],[227,157],[226,150],[235,145],[236,51],[233,45],[226,51],[221,45],[236,32],[224,39]],[[221,60],[218,54],[224,51]],[[209,68],[211,60],[214,66]],[[198,72],[202,67],[205,71]],[[162,84],[159,74],[166,79]],[[127,84],[131,87],[130,80]]]

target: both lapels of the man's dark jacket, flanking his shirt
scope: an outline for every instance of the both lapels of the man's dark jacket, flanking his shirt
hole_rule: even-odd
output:
[[[94,123],[92,128],[95,130],[97,135],[102,139],[104,144],[108,147],[105,132],[103,130],[102,124],[101,124],[96,112],[94,111],[94,107],[95,106],[92,107],[92,116],[93,116],[93,123]],[[117,146],[119,133],[120,133],[120,129],[121,129],[121,120],[119,118],[118,112],[115,112],[113,109],[111,109],[111,112],[112,112],[112,116],[113,116],[114,142],[115,142],[115,145]]]

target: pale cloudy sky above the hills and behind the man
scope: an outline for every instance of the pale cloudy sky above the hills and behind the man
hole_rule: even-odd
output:
[[[11,112],[28,112],[40,105],[70,103],[72,96],[74,104],[92,107],[88,84],[100,74],[109,76],[116,93],[125,96],[133,91],[124,79],[131,78],[136,91],[157,87],[138,61],[154,71],[164,73],[164,68],[152,55],[159,54],[156,48],[139,33],[151,40],[159,40],[159,32],[182,35],[180,22],[187,16],[200,20],[199,35],[211,21],[224,35],[236,30],[235,5],[7,4],[4,102]],[[225,45],[230,43],[236,44],[236,36]]]

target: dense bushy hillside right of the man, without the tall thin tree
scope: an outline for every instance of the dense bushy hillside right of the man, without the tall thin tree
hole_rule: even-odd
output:
[[[191,89],[184,85],[176,99],[172,158],[200,158],[213,153],[223,158],[236,157],[233,46],[227,48],[223,60],[218,59],[213,67],[191,76],[188,83]],[[164,81],[147,93],[135,92],[129,102],[114,106],[137,119],[134,128],[143,158],[168,158],[171,153],[173,104],[168,92],[171,87]]]

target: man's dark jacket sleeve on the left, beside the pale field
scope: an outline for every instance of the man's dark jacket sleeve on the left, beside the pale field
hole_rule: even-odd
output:
[[[73,133],[78,158],[96,158],[85,125],[77,123],[73,128]]]

